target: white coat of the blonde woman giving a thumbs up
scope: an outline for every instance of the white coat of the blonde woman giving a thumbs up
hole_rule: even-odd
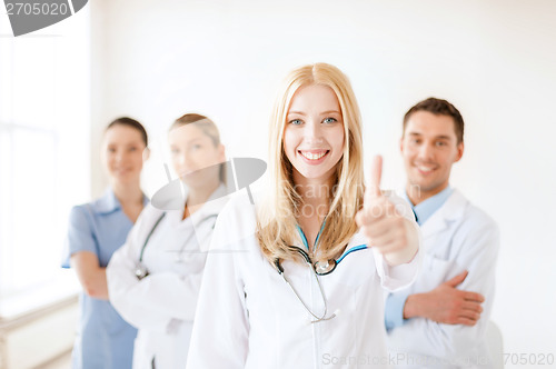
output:
[[[404,200],[394,201],[405,207]],[[257,201],[256,201],[257,203]],[[415,223],[418,229],[417,223]],[[420,252],[407,265],[389,267],[376,249],[348,255],[321,276],[331,320],[311,316],[264,258],[255,238],[256,211],[237,193],[218,218],[199,295],[188,369],[310,369],[387,366],[384,289],[413,281]],[[366,243],[361,233],[348,249]],[[298,240],[298,246],[301,246]],[[302,246],[301,246],[302,247]],[[215,250],[220,249],[220,252]],[[321,315],[324,302],[305,263],[281,262],[300,297]],[[348,363],[348,365],[346,365]],[[350,363],[350,365],[349,365]]]

